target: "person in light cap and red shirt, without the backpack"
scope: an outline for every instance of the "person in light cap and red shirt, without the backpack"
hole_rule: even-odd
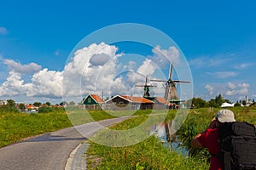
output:
[[[221,161],[218,160],[218,152],[220,151],[218,127],[222,126],[224,122],[236,122],[233,111],[218,111],[209,127],[204,132],[195,135],[194,139],[191,141],[192,148],[204,147],[211,153],[210,170],[224,169]]]

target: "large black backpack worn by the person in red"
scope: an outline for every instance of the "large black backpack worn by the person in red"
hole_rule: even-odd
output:
[[[224,170],[256,170],[256,133],[248,122],[224,122],[219,127],[218,158]]]

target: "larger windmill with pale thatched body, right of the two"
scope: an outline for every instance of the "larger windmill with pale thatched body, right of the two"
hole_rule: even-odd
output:
[[[171,103],[174,100],[179,102],[179,100],[177,98],[176,84],[181,83],[181,82],[189,83],[189,81],[172,80],[172,63],[170,65],[168,80],[150,80],[150,81],[152,81],[152,82],[166,82],[165,83],[166,91],[165,91],[164,98],[166,99],[166,101],[169,101],[169,103]]]

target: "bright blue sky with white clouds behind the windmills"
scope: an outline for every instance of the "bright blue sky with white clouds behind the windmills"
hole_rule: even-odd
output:
[[[102,92],[103,98],[143,95],[135,85],[143,84],[146,75],[166,79],[170,61],[172,78],[183,79],[182,58],[191,83],[177,89],[192,92],[184,90],[181,98],[255,99],[255,7],[255,1],[240,0],[1,1],[0,99],[57,104]],[[152,27],[173,44],[85,41],[122,23]],[[151,94],[163,96],[163,85],[152,83],[157,88]]]

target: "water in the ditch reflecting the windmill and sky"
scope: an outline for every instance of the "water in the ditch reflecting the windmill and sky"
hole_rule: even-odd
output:
[[[160,139],[168,149],[177,151],[183,156],[188,156],[188,150],[182,146],[182,142],[178,141],[177,135],[171,131],[172,122],[163,122],[153,125],[150,135],[154,134]]]

